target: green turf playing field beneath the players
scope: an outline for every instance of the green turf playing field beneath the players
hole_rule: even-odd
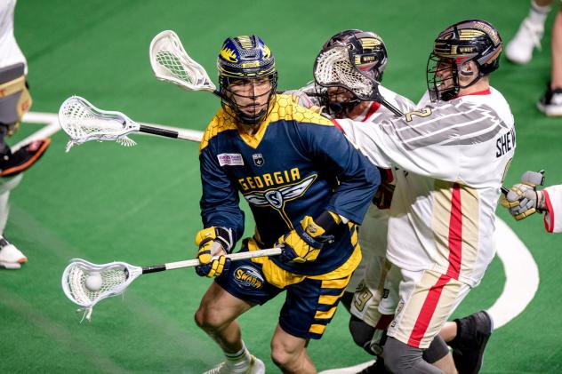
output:
[[[149,67],[152,36],[173,29],[215,77],[214,61],[227,36],[255,33],[276,54],[279,88],[312,79],[312,65],[325,40],[345,28],[376,31],[387,44],[383,84],[414,101],[425,90],[432,41],[451,23],[489,20],[509,41],[528,9],[527,1],[148,1],[20,0],[15,35],[28,57],[32,111],[56,113],[72,94],[133,119],[203,130],[218,99],[157,82]],[[553,18],[550,14],[547,25]],[[534,107],[550,72],[550,26],[543,51],[525,67],[494,73],[492,84],[510,102],[518,150],[506,185],[523,171],[545,169],[547,183],[562,183],[562,120]],[[23,124],[13,142],[39,129]],[[201,227],[197,144],[135,137],[136,147],[88,143],[64,152],[56,133],[41,162],[12,193],[5,234],[29,259],[20,271],[0,272],[0,372],[2,373],[198,373],[221,361],[221,352],[197,329],[193,314],[209,280],[192,269],[149,275],[124,298],[97,306],[91,323],[65,298],[60,275],[68,260],[123,260],[154,265],[192,258]],[[524,313],[494,333],[485,373],[562,372],[562,235],[547,235],[541,217],[516,223],[498,211],[526,244],[541,282]],[[253,229],[246,222],[247,233]],[[495,259],[478,289],[455,315],[494,304],[502,292],[502,262]],[[269,338],[282,298],[241,318],[244,339],[268,372]],[[336,314],[325,338],[309,353],[318,370],[369,359],[354,346],[348,315]]]

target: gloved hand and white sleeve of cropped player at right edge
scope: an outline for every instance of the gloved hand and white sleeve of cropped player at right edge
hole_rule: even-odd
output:
[[[562,185],[546,187],[544,171],[526,171],[521,182],[513,185],[507,195],[502,197],[502,206],[510,210],[517,219],[526,219],[534,213],[544,212],[544,228],[549,233],[562,233]],[[556,213],[558,212],[558,217]]]

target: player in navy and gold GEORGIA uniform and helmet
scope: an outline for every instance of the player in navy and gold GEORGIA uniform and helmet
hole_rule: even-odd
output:
[[[275,60],[258,36],[229,37],[217,66],[221,109],[200,146],[205,228],[196,237],[197,274],[215,282],[195,317],[227,360],[209,372],[264,372],[237,317],[286,290],[271,358],[284,372],[313,373],[307,343],[322,337],[361,260],[357,224],[380,175],[331,121],[275,93]],[[277,245],[280,256],[225,258],[244,232],[239,195],[256,223],[241,251]]]

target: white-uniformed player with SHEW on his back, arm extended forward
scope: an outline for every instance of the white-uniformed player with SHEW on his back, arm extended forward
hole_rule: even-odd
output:
[[[494,211],[515,150],[510,107],[489,83],[501,52],[488,22],[456,23],[430,54],[430,105],[378,126],[336,120],[373,163],[399,168],[387,250],[401,274],[384,350],[392,372],[444,372],[422,353],[494,258]],[[492,330],[486,312],[470,321],[449,343],[462,373],[478,372]]]

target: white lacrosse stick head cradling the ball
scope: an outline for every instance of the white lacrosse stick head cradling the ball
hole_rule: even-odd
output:
[[[62,273],[62,290],[70,301],[84,309],[84,316],[89,320],[93,306],[104,298],[123,293],[141,274],[141,267],[126,262],[97,265],[84,259],[72,259]],[[90,290],[86,285],[87,278],[92,275],[101,277],[99,290]]]

